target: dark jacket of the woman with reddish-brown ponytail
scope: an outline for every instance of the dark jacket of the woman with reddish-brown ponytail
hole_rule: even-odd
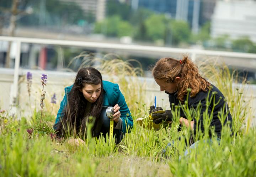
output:
[[[200,112],[200,118],[198,119],[198,121],[192,117],[193,121],[194,121],[194,133],[196,133],[196,128],[199,130],[201,129],[202,132],[204,132],[204,124],[203,124],[203,113],[206,112],[207,109],[207,97],[208,97],[208,93],[209,93],[209,107],[207,110],[208,113],[208,117],[210,117],[211,112],[213,110],[213,117],[212,117],[212,121],[210,122],[210,127],[214,126],[215,127],[215,133],[216,135],[220,138],[221,136],[221,130],[222,130],[222,124],[220,122],[219,116],[222,113],[222,111],[224,112],[224,124],[226,124],[227,121],[230,121],[230,127],[231,127],[231,123],[232,123],[232,117],[231,114],[229,113],[229,107],[228,104],[225,101],[225,98],[222,94],[222,92],[219,91],[219,89],[217,87],[215,87],[214,85],[211,84],[211,86],[213,87],[210,91],[207,89],[207,91],[199,91],[197,93],[196,96],[194,97],[188,97],[188,107],[192,108],[192,109],[197,109],[198,104],[201,103],[201,112]],[[215,93],[215,100],[214,97],[212,97]],[[169,95],[169,102],[170,102],[170,106],[172,108],[172,103],[174,103],[175,105],[180,105],[180,102],[177,99],[177,92],[175,93],[168,93]],[[210,99],[212,97],[212,99]],[[184,96],[184,101],[186,101],[187,99],[187,95]],[[219,103],[218,103],[219,102]],[[214,103],[218,103],[217,105],[214,106]],[[224,110],[223,110],[224,109]],[[219,115],[219,116],[218,116]],[[183,112],[182,109],[180,109],[180,116],[183,118],[186,118],[186,114]],[[187,119],[187,118],[186,118]],[[209,129],[210,129],[209,127]],[[211,133],[209,132],[209,136],[211,136]]]

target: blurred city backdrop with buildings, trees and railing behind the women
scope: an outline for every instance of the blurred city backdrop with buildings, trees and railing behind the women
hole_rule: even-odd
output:
[[[19,76],[76,72],[84,51],[135,59],[145,78],[159,58],[187,53],[195,62],[225,63],[256,84],[256,0],[0,0],[2,83],[15,78],[15,66]],[[18,81],[8,82],[15,98]]]

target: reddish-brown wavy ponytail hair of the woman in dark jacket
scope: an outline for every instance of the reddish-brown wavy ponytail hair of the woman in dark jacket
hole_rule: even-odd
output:
[[[191,89],[191,97],[196,96],[201,90],[210,89],[210,83],[201,77],[197,66],[188,59],[187,55],[183,56],[180,61],[168,57],[161,58],[153,68],[153,76],[165,82],[173,82],[179,76],[181,81],[178,83],[177,98],[181,102],[184,102],[188,88]]]

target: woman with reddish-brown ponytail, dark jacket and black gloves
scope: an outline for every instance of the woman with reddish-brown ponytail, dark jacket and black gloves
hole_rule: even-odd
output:
[[[188,120],[186,114],[180,109],[180,124],[190,127],[194,134],[199,130],[204,133],[203,114],[208,114],[209,117],[212,115],[210,127],[214,127],[218,138],[221,137],[222,131],[222,124],[219,119],[220,112],[224,112],[224,124],[229,121],[231,128],[232,117],[222,92],[200,76],[197,66],[188,59],[188,56],[183,57],[181,60],[161,58],[153,68],[153,76],[160,86],[160,90],[168,94],[171,107],[172,105],[180,105],[180,103],[184,104],[187,100],[187,95],[188,108],[196,109],[198,104],[201,105],[199,120],[195,118],[192,118],[191,121]],[[215,99],[210,99],[212,96]],[[150,113],[156,110],[162,110],[162,108],[150,107]],[[156,124],[173,120],[171,110],[165,110],[165,113],[152,114],[152,117],[155,118],[153,122]],[[209,136],[212,136],[210,131]],[[191,139],[191,143],[193,143],[193,139]]]

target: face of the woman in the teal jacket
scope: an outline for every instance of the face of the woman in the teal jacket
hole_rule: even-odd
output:
[[[87,101],[94,103],[101,94],[101,84],[86,84],[80,89],[80,92],[82,92]]]

